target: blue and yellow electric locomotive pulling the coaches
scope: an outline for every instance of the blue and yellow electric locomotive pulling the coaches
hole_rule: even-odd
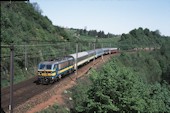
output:
[[[74,58],[67,56],[54,61],[40,62],[38,65],[38,83],[48,84],[74,71]]]

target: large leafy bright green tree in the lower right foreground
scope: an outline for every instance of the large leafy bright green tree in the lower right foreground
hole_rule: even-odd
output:
[[[141,57],[138,54],[139,56]],[[122,57],[131,61],[135,59],[125,54]],[[121,60],[113,58],[100,71],[91,72],[92,84],[88,86],[88,90],[85,88],[86,93],[83,97],[86,99],[81,99],[80,103],[75,105],[76,111],[86,113],[168,112],[170,109],[168,84],[166,82],[148,84],[139,76],[137,70],[129,68],[129,64],[125,66],[120,62]],[[84,88],[81,87],[81,90]],[[79,91],[76,94],[79,94]]]

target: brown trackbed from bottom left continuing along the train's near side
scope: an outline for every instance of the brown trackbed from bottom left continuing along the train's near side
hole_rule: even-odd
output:
[[[104,59],[108,59],[113,55],[114,54],[105,55]],[[64,77],[63,79],[61,79],[58,82],[55,82],[52,85],[37,85],[35,83],[35,80],[37,79],[37,77],[33,77],[29,80],[26,80],[19,84],[14,85],[13,108],[14,109],[17,108],[19,105],[25,103],[26,101],[28,101],[29,99],[31,99],[32,97],[34,97],[36,95],[39,95],[45,91],[47,92],[54,86],[57,86],[56,90],[59,89],[60,87],[69,83],[69,81],[72,81],[73,78],[80,77],[81,73],[87,73],[87,71],[90,69],[91,66],[93,66],[97,63],[101,63],[101,60],[103,60],[102,57],[96,59],[95,61],[89,62],[88,64],[79,68],[77,75],[75,75],[75,73],[67,75],[66,77]],[[10,91],[9,87],[1,90],[1,106],[5,112],[9,112],[9,110],[8,110],[8,106],[9,106],[9,102],[10,102],[9,91]]]

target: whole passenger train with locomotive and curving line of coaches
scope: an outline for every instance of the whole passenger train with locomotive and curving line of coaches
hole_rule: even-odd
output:
[[[68,56],[43,61],[38,64],[39,84],[52,84],[63,76],[73,73],[78,67],[97,59],[102,55],[118,53],[118,48],[100,48],[69,54]]]

